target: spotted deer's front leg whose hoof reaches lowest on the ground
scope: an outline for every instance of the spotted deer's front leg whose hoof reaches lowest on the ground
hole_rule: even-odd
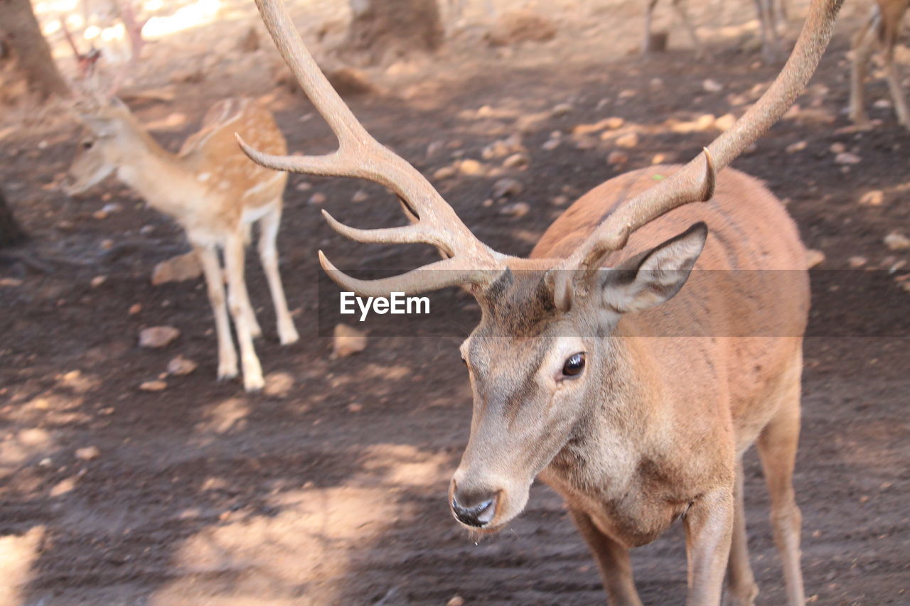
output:
[[[240,365],[243,368],[243,386],[247,391],[262,389],[262,367],[253,348],[253,335],[249,325],[252,311],[248,309],[249,298],[243,273],[243,235],[234,233],[225,243],[225,269],[227,270],[227,308],[234,318],[237,340],[240,344]]]

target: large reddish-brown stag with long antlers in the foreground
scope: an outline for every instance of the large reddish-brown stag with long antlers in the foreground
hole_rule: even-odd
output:
[[[793,475],[809,308],[805,248],[771,192],[742,172],[720,171],[803,91],[840,5],[812,0],[772,86],[697,157],[595,187],[518,258],[474,237],[430,181],[370,136],[319,71],[284,5],[257,0],[339,147],[288,157],[238,136],[244,152],[276,170],[388,187],[404,226],[351,227],[322,214],[355,241],[422,243],[441,253],[375,280],[345,274],[320,250],[321,267],[364,297],[461,287],[480,306],[480,324],[460,346],[473,409],[448,496],[465,529],[504,528],[540,478],[565,499],[612,604],[642,603],[629,550],[677,519],[686,532],[687,603],[720,603],[726,576],[728,601],[752,604],[758,588],[746,548],[742,457],[754,443],[787,601],[804,603]],[[742,272],[746,279],[726,281]]]

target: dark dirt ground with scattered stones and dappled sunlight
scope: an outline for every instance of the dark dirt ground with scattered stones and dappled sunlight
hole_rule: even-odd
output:
[[[680,35],[666,54],[630,55],[637,2],[575,12],[562,3],[551,8],[559,28],[551,43],[490,49],[478,44],[480,26],[469,24],[435,62],[368,70],[383,92],[349,103],[426,175],[461,157],[498,168],[435,183],[481,239],[527,254],[566,197],[658,154],[693,157],[719,131],[684,123],[741,115],[773,78],[751,43],[751,4],[742,3],[748,14],[727,6],[723,15],[713,3],[690,4],[710,60],[695,60]],[[847,122],[848,35],[865,6],[844,10],[799,111],[734,166],[788,201],[807,246],[825,255],[813,272],[795,476],[807,595],[816,604],[908,604],[910,293],[900,280],[910,251],[888,250],[883,238],[910,235],[910,135],[883,104],[871,109],[874,130]],[[242,31],[254,16],[246,10],[161,47],[196,36],[197,48]],[[789,24],[789,40],[798,25]],[[308,102],[273,90],[261,69],[273,58],[270,42],[262,41],[268,47],[251,57],[210,62],[227,76],[210,69],[202,84],[179,82],[177,101],[133,103],[136,114],[176,150],[220,96],[269,94],[291,149],[328,150],[329,130]],[[171,67],[186,70],[194,57],[172,57]],[[155,77],[167,82],[167,72],[152,71],[148,86],[161,84]],[[887,98],[882,82],[870,91],[870,102]],[[560,104],[571,107],[551,111]],[[389,606],[456,595],[468,604],[602,603],[588,551],[546,487],[535,485],[521,518],[479,544],[451,519],[446,490],[470,423],[458,337],[373,338],[359,355],[330,359],[317,321],[318,248],[346,268],[409,268],[435,255],[429,247],[354,245],[319,217],[321,206],[360,227],[399,224],[397,204],[381,188],[290,177],[279,247],[302,339],[278,345],[268,288],[250,260],[268,387],[248,395],[238,382],[215,380],[202,283],[149,283],[157,262],[188,249],[180,230],[113,180],[79,199],[59,193],[76,125],[42,126],[17,112],[0,124],[0,187],[34,238],[0,257],[0,604]],[[608,116],[625,120],[611,136],[571,136],[574,126]],[[554,131],[560,143],[545,149]],[[503,169],[502,158],[482,157],[484,146],[517,132],[529,167]],[[636,145],[617,145],[632,132]],[[608,164],[617,150],[628,159]],[[835,162],[844,152],[859,162]],[[518,179],[524,191],[485,206],[501,177]],[[368,199],[352,202],[361,188]],[[880,204],[860,203],[875,190]],[[314,204],[315,193],[325,202]],[[503,212],[516,201],[530,212]],[[119,209],[96,215],[111,203]],[[873,271],[847,270],[860,256]],[[93,286],[97,277],[104,279]],[[470,304],[454,289],[433,300]],[[181,336],[167,348],[138,348],[138,331],[158,325]],[[177,354],[199,368],[167,377],[164,391],[138,389]],[[98,456],[77,457],[86,447]],[[759,603],[783,603],[753,453],[745,483]],[[643,601],[682,603],[682,530],[634,551],[633,564]]]

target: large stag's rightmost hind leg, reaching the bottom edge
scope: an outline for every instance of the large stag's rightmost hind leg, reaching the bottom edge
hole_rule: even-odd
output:
[[[764,478],[771,493],[774,543],[784,563],[784,581],[790,606],[802,606],[805,603],[803,572],[800,570],[799,561],[802,516],[796,506],[793,486],[800,428],[799,399],[800,383],[797,374],[791,387],[784,394],[779,411],[765,426],[756,442],[758,454],[762,459]]]

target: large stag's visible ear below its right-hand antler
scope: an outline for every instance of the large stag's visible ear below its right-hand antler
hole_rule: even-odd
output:
[[[696,223],[679,236],[604,272],[603,304],[626,313],[669,300],[689,278],[707,237],[708,226]]]

